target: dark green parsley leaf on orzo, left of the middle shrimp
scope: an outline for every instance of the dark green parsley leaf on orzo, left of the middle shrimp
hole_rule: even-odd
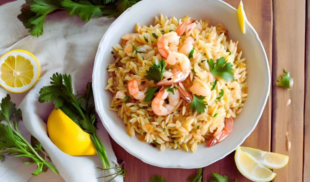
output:
[[[154,80],[154,83],[159,82],[164,77],[165,61],[162,59],[160,62],[155,60],[155,64],[151,63],[151,67],[146,71],[145,78],[148,81]]]

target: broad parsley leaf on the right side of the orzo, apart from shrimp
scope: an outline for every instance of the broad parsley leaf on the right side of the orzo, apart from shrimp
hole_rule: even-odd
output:
[[[230,62],[227,63],[227,61],[225,61],[224,57],[220,57],[216,61],[216,64],[213,62],[212,59],[210,59],[210,61],[207,61],[207,62],[210,66],[210,70],[211,70],[210,72],[212,74],[219,75],[226,81],[228,81],[230,78],[232,80],[234,79],[234,75],[232,73],[232,64]]]

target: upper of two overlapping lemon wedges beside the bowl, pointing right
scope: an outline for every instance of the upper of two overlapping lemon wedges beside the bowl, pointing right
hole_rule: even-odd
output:
[[[289,162],[289,157],[286,155],[274,153],[274,152],[265,152],[255,148],[249,147],[240,147],[243,152],[250,154],[254,157],[259,163],[263,166],[266,166],[270,169],[279,169],[284,167]]]

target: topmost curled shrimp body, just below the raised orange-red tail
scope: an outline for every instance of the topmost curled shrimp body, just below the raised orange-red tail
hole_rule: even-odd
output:
[[[162,37],[157,42],[158,52],[162,57],[167,58],[169,51],[178,52],[180,36],[176,32],[169,32],[163,34]]]

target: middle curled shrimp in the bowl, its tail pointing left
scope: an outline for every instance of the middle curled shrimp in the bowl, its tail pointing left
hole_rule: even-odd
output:
[[[171,74],[165,79],[157,82],[157,86],[170,85],[185,80],[191,72],[191,63],[187,56],[179,52],[171,52],[166,59],[168,65],[173,66]]]

